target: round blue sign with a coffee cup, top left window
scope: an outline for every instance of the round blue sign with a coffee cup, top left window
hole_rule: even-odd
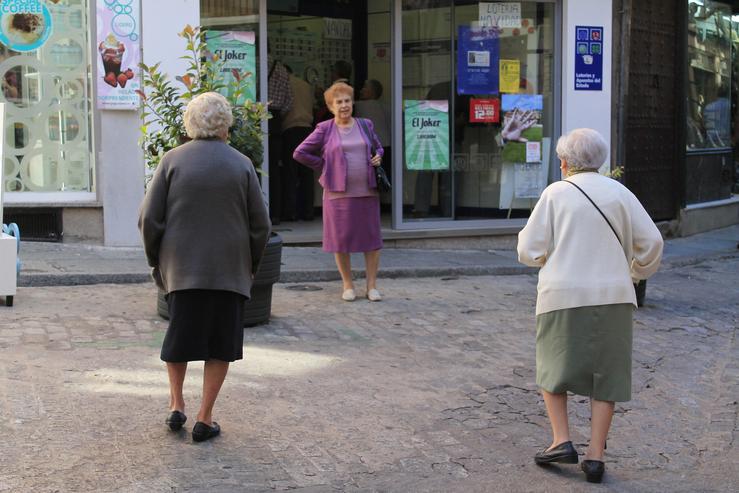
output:
[[[13,51],[34,51],[51,36],[51,12],[41,0],[0,2],[0,43]]]

